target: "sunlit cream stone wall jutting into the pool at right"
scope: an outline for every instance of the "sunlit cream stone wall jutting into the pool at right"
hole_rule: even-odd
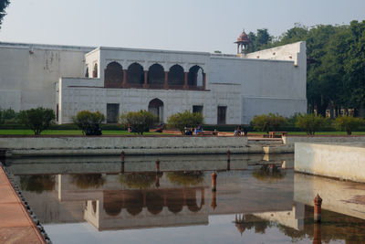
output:
[[[365,182],[365,143],[296,143],[294,157],[297,172]]]

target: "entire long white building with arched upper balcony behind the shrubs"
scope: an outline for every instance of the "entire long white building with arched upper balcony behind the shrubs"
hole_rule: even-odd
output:
[[[202,111],[208,124],[307,111],[306,43],[246,55],[0,43],[0,107],[52,108],[57,122],[100,111],[116,122],[150,110],[163,122]]]

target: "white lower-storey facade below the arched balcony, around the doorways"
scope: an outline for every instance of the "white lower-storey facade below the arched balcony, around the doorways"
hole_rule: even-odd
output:
[[[193,105],[203,106],[204,122],[217,123],[217,107],[227,106],[226,122],[240,122],[239,85],[212,84],[212,90],[146,90],[105,89],[100,79],[63,78],[59,81],[59,123],[72,122],[78,111],[100,111],[106,115],[107,103],[119,103],[120,114],[148,110],[149,102],[163,101],[163,121],[176,112],[193,111]]]

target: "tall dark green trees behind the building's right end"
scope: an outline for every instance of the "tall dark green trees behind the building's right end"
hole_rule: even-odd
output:
[[[330,109],[337,117],[341,109],[353,109],[355,116],[365,110],[365,20],[335,26],[296,24],[280,37],[258,29],[248,37],[248,52],[307,42],[308,112],[326,116]]]

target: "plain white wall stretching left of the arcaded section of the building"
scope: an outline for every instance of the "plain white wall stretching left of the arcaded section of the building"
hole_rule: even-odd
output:
[[[56,110],[55,82],[82,77],[91,48],[0,43],[0,108]]]

